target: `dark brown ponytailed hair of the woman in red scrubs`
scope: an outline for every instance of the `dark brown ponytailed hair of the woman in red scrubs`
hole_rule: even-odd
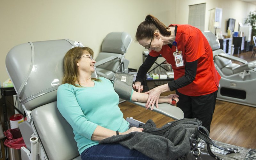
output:
[[[171,31],[167,31],[167,27],[152,15],[146,16],[145,20],[140,23],[137,28],[135,40],[151,39],[154,32],[159,30],[163,36],[170,36]]]

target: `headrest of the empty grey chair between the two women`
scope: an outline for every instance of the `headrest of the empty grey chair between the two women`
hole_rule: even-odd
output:
[[[126,32],[110,32],[102,42],[101,52],[126,53],[132,37]]]

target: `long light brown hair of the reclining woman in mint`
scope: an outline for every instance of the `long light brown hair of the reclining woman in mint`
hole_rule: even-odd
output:
[[[79,83],[79,72],[76,63],[81,56],[83,56],[84,51],[89,52],[93,57],[93,50],[89,47],[74,47],[71,48],[64,56],[64,76],[62,84],[68,83],[76,87],[81,87]],[[92,78],[92,80],[100,81],[100,79]],[[79,86],[76,85],[76,81]]]

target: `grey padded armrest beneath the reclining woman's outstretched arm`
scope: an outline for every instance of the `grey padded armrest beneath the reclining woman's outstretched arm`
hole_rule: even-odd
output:
[[[134,101],[130,101],[130,102],[143,108],[145,108],[146,106],[146,103],[143,103],[143,102],[134,102]],[[174,120],[179,120],[184,118],[184,113],[180,108],[168,103],[158,103],[158,108],[156,108],[155,106],[153,108],[153,111],[160,113],[162,115],[166,115]]]

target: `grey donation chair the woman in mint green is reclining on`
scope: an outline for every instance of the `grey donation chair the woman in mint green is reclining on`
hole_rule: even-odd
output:
[[[73,129],[56,106],[63,58],[76,44],[69,39],[29,42],[13,47],[6,56],[7,73],[27,115],[27,121],[19,124],[26,144],[21,148],[22,160],[81,159]],[[161,105],[165,108],[161,112],[174,119],[184,117],[180,108]]]

